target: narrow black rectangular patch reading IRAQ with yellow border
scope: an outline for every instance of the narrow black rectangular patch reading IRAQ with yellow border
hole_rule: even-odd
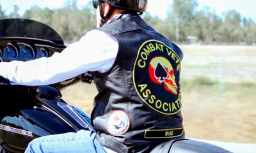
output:
[[[183,128],[149,129],[144,133],[145,138],[175,138],[183,134]]]

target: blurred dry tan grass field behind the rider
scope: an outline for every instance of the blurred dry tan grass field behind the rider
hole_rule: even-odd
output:
[[[256,47],[180,45],[182,113],[189,138],[256,143]],[[93,84],[62,91],[90,114]]]

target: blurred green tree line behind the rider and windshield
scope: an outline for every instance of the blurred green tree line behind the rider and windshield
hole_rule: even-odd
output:
[[[150,3],[150,1],[148,1]],[[256,23],[242,17],[236,10],[227,10],[216,15],[210,8],[197,9],[196,0],[173,0],[168,6],[166,18],[159,18],[150,12],[141,15],[148,24],[169,40],[179,43],[200,42],[204,44],[256,44]],[[77,41],[87,31],[95,28],[96,12],[92,3],[77,7],[77,0],[67,0],[63,8],[49,9],[32,6],[24,15],[19,7],[6,15],[0,4],[0,19],[29,18],[50,25],[65,41]]]

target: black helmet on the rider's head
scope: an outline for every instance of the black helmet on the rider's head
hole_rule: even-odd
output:
[[[147,0],[102,0],[116,8],[129,11],[144,12],[147,9]]]

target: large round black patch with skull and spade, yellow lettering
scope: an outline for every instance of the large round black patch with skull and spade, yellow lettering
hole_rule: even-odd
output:
[[[173,115],[180,111],[180,57],[165,43],[145,41],[132,72],[134,88],[154,111]]]

